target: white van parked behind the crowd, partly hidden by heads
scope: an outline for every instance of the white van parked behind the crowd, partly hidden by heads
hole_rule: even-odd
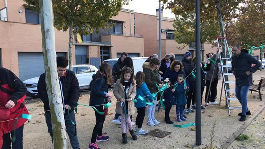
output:
[[[136,75],[136,73],[138,71],[143,71],[143,63],[146,61],[146,59],[148,57],[131,57],[133,59],[133,69],[134,69],[134,75]],[[103,63],[108,63],[111,65],[111,69],[113,67],[113,65],[115,63],[117,63],[118,58],[112,58],[112,59],[108,59],[103,61]]]

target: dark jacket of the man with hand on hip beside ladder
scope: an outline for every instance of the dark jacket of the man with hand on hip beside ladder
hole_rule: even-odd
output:
[[[251,67],[251,64],[256,64]],[[235,75],[235,85],[252,85],[252,73],[256,72],[261,63],[248,53],[241,53],[239,56],[232,56],[232,72]],[[247,71],[251,74],[248,76]]]

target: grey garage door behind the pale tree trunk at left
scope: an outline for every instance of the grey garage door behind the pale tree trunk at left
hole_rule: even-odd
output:
[[[56,54],[66,57],[66,52],[57,52]],[[18,52],[18,71],[22,81],[44,73],[42,52]]]

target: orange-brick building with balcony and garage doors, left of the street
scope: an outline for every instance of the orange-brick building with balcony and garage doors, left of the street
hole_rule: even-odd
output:
[[[24,7],[23,0],[0,0],[0,67],[13,71],[23,81],[44,72],[40,15]],[[114,26],[99,33],[73,39],[73,64],[99,67],[109,58],[128,52],[144,54],[142,35],[134,33],[134,12],[123,9],[111,18]],[[68,57],[69,32],[55,29],[57,56]],[[118,56],[117,56],[118,55]]]

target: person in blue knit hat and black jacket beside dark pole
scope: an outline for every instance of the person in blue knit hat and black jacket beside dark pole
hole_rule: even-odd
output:
[[[194,112],[194,110],[192,110],[190,108],[190,104],[192,101],[192,108],[195,109],[195,94],[194,90],[195,90],[195,78],[193,77],[193,75],[191,74],[192,71],[195,70],[195,63],[192,62],[192,54],[190,52],[186,52],[184,55],[184,58],[182,60],[182,64],[184,67],[184,71],[186,73],[186,75],[188,76],[188,82],[189,82],[189,92],[186,94],[187,95],[187,109],[186,109],[186,113],[187,112]],[[187,81],[187,80],[186,80]]]

